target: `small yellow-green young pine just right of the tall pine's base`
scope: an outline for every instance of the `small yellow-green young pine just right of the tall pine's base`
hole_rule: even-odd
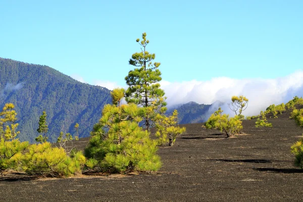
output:
[[[176,141],[176,137],[185,132],[185,127],[178,125],[178,111],[175,110],[170,117],[157,114],[155,117],[156,136],[159,137],[159,145],[172,146]]]

